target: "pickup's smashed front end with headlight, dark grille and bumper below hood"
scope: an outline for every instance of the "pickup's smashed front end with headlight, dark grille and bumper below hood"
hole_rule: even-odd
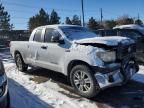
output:
[[[92,66],[95,78],[101,89],[126,83],[138,72],[139,66],[135,60],[135,44],[119,44],[107,46],[102,44],[85,44],[103,48],[105,52],[98,52],[104,65]],[[105,54],[104,54],[105,53]]]

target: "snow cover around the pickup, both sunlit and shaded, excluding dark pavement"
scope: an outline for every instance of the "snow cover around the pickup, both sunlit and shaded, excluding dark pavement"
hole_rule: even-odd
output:
[[[95,102],[76,94],[73,95],[77,98],[68,97],[65,94],[72,93],[51,80],[40,84],[32,81],[34,75],[19,72],[7,51],[4,54],[0,53],[0,58],[4,60],[9,78],[12,108],[97,108]],[[133,79],[144,83],[143,71],[144,66],[140,66],[140,71]]]

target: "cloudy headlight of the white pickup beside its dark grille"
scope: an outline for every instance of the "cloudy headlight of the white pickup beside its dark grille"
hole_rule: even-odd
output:
[[[97,56],[104,62],[114,62],[116,60],[115,51],[97,52]]]

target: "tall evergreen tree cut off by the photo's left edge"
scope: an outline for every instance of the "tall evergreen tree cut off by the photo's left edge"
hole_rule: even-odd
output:
[[[0,30],[11,30],[10,15],[5,11],[2,4],[0,4]]]

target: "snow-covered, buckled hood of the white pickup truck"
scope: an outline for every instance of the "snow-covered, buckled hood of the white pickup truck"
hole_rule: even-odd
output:
[[[80,39],[80,40],[75,40],[75,43],[79,43],[79,44],[98,43],[98,44],[105,44],[109,46],[117,46],[119,43],[132,44],[134,43],[134,41],[127,37],[111,36],[111,37],[95,37],[95,38]]]

